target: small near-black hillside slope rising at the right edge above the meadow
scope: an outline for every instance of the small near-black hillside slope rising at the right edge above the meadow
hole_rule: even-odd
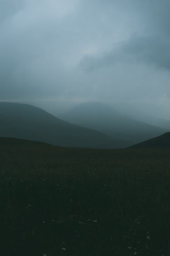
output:
[[[130,146],[129,148],[170,148],[170,132]]]

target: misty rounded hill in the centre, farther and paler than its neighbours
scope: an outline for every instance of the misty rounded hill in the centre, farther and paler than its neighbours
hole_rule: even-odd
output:
[[[61,118],[117,139],[133,141],[133,143],[139,143],[167,132],[166,129],[123,115],[101,102],[81,103],[63,114]]]

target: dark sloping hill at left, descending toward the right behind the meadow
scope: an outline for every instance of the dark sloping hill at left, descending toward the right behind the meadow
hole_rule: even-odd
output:
[[[128,143],[99,131],[73,125],[27,104],[0,102],[0,137],[66,147],[120,148]]]

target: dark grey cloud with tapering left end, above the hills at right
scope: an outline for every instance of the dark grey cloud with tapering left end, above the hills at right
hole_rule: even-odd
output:
[[[85,56],[80,66],[90,71],[117,62],[145,63],[170,71],[170,38],[133,36],[120,42],[111,52],[98,56]]]

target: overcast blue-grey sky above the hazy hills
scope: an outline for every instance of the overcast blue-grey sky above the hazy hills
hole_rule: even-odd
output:
[[[0,0],[0,100],[170,107],[169,0]]]

